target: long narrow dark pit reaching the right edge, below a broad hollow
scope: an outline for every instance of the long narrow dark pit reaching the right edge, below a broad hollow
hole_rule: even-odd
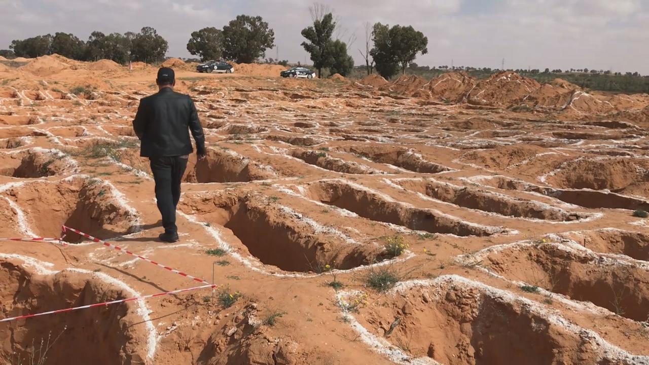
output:
[[[549,197],[554,197],[565,203],[579,205],[584,208],[611,208],[611,209],[628,209],[628,210],[645,210],[649,211],[649,202],[628,197],[626,195],[615,194],[611,192],[598,192],[596,190],[563,190],[555,188],[546,188],[509,179],[508,177],[495,176],[482,179],[480,183],[493,186],[503,190],[518,190],[521,192],[535,192]]]

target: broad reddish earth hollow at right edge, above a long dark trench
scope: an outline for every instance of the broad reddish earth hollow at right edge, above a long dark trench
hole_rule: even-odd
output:
[[[629,159],[573,160],[548,176],[546,182],[558,188],[617,190],[647,181],[647,167]]]

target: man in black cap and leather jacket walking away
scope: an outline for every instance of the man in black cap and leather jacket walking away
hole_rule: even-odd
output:
[[[190,96],[173,91],[176,84],[173,69],[160,68],[156,83],[158,93],[140,100],[133,130],[141,141],[140,156],[149,157],[156,183],[158,210],[164,226],[159,238],[164,242],[176,242],[180,181],[193,152],[189,131],[196,141],[198,158],[205,157],[205,136]]]

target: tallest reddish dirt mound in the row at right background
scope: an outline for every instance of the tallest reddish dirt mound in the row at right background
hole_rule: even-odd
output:
[[[518,104],[527,95],[541,87],[539,82],[512,71],[502,71],[476,84],[468,101],[474,105],[493,107]]]

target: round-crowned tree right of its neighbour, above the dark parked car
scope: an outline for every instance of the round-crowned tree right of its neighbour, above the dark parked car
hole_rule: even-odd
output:
[[[239,15],[223,27],[223,56],[238,63],[252,63],[275,47],[275,31],[260,16]]]

